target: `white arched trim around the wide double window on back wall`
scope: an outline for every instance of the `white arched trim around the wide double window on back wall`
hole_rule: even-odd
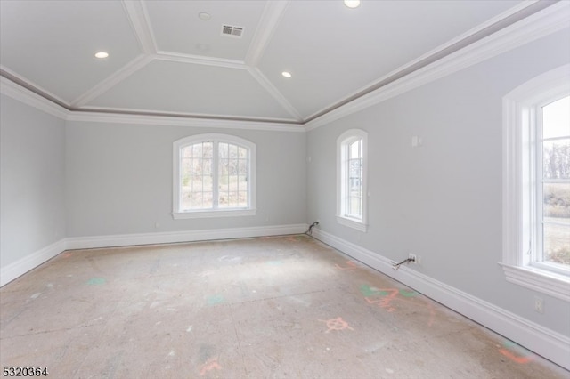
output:
[[[249,176],[248,176],[248,208],[237,209],[206,209],[193,211],[180,211],[180,150],[199,141],[218,141],[241,145],[249,149]],[[197,134],[173,142],[173,194],[172,217],[178,219],[208,218],[208,217],[234,217],[256,215],[256,144],[240,137],[229,134]],[[216,160],[217,162],[217,160]]]

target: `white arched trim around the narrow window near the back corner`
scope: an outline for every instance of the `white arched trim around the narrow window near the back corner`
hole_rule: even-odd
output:
[[[362,139],[362,221],[343,214],[343,144],[349,139]],[[355,230],[368,230],[368,133],[361,129],[350,129],[337,139],[337,222]]]

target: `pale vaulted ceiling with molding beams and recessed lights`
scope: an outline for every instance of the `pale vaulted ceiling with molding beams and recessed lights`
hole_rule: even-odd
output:
[[[0,73],[69,110],[303,124],[541,3],[2,0]]]

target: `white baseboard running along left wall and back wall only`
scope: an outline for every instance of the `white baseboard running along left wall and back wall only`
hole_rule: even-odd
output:
[[[251,238],[305,233],[305,223],[292,225],[257,226],[216,230],[186,230],[162,233],[122,234],[95,237],[63,238],[60,241],[29,254],[0,270],[0,286],[10,283],[29,270],[52,259],[65,250],[95,247],[168,244],[175,242],[207,241],[212,239]]]

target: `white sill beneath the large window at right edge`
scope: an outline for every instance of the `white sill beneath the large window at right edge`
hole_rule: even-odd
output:
[[[510,283],[550,294],[557,299],[570,302],[570,278],[547,270],[533,267],[517,267],[499,263]]]

